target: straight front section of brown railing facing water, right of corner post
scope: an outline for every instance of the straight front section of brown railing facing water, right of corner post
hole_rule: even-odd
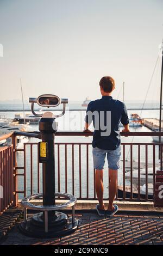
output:
[[[121,133],[128,136],[162,136],[158,132],[130,132]],[[57,132],[56,136],[92,136],[92,132]],[[122,143],[121,170],[118,171],[118,190],[117,200],[130,201],[148,201],[153,200],[152,195],[149,195],[148,183],[155,185],[155,170],[162,169],[162,157],[160,162],[156,163],[156,159],[162,155],[162,143]],[[39,164],[37,155],[38,144],[36,142],[24,143],[24,163],[23,166],[17,167],[23,169],[24,173],[17,173],[17,176],[24,177],[20,182],[21,190],[17,193],[23,193],[27,196],[33,193],[42,192],[42,168]],[[150,154],[149,154],[149,149]],[[93,169],[91,142],[57,142],[55,143],[55,186],[56,191],[72,193],[78,199],[89,200],[97,199],[95,190],[95,169]],[[134,155],[137,154],[137,160],[134,160]],[[128,161],[126,160],[128,156]],[[143,157],[142,157],[143,156]],[[28,157],[28,160],[27,160]],[[142,160],[143,158],[143,160]],[[137,166],[136,166],[137,165]],[[149,168],[153,172],[149,175]],[[135,178],[135,169],[137,168],[137,178]],[[141,174],[144,168],[145,174]],[[108,186],[109,176],[107,167],[104,169],[104,199],[109,199]],[[127,171],[130,176],[126,178]],[[149,180],[150,178],[150,180]],[[145,192],[142,193],[141,187],[145,185]]]

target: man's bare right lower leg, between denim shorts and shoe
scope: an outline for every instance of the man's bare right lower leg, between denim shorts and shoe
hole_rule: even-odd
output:
[[[108,211],[112,211],[112,203],[117,192],[117,170],[109,169],[109,205]]]

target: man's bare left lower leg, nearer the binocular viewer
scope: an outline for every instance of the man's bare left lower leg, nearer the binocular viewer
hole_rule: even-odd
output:
[[[96,169],[96,177],[95,177],[95,186],[96,186],[96,193],[99,201],[99,209],[104,209],[103,204],[103,192],[104,192],[104,186],[103,186],[103,169],[98,170]]]

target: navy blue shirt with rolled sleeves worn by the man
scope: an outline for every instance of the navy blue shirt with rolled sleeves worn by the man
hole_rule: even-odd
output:
[[[93,148],[97,147],[99,149],[105,150],[115,150],[120,146],[121,136],[120,136],[120,122],[123,125],[129,123],[127,108],[125,104],[119,100],[112,99],[111,96],[102,96],[101,99],[91,101],[87,106],[86,123],[91,123],[93,120],[93,126],[95,127],[95,115],[92,114],[92,118],[88,112],[97,111],[99,114],[99,124],[100,124],[100,112],[104,111],[104,125],[106,126],[106,112],[111,112],[111,132],[109,136],[101,136],[101,127],[93,132]],[[110,125],[110,124],[109,124]]]

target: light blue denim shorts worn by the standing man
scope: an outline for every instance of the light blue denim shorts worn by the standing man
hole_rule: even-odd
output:
[[[95,169],[102,170],[105,164],[105,157],[107,155],[108,168],[117,170],[120,168],[121,147],[115,150],[105,150],[93,148],[93,166]]]

